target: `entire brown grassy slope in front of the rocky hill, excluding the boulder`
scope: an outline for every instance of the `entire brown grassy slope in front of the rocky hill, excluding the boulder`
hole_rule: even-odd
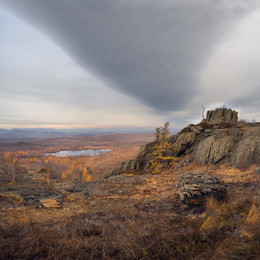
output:
[[[181,205],[175,183],[191,170],[225,180],[228,200],[209,199],[204,210]],[[259,185],[260,175],[252,169],[193,164],[177,173],[86,184],[86,197],[64,196],[59,209],[2,197],[0,258],[258,259]]]

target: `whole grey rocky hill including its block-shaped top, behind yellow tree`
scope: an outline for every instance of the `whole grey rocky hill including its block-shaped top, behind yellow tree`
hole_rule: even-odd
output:
[[[180,165],[182,161],[183,165],[187,163],[187,156],[189,163],[203,165],[260,163],[260,123],[237,123],[237,112],[231,109],[208,111],[206,121],[188,125],[171,136],[168,142],[171,144],[171,156],[178,157]],[[152,142],[143,146],[135,160],[121,163],[107,177],[147,168],[154,145]]]

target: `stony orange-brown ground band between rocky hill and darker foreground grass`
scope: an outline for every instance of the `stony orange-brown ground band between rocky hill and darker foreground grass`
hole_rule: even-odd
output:
[[[71,180],[51,180],[44,174],[25,174],[15,184],[2,180],[0,184],[0,214],[3,219],[12,212],[30,212],[31,217],[97,213],[120,208],[147,208],[183,214],[176,187],[185,172],[206,172],[224,181],[229,192],[250,189],[258,196],[260,169],[256,166],[246,171],[227,166],[211,167],[189,165],[179,171],[173,169],[160,175],[123,174],[92,183]]]

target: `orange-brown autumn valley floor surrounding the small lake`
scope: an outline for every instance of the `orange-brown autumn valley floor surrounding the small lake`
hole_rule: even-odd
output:
[[[34,144],[45,148],[35,150],[35,147],[30,147],[28,142],[26,150],[17,150],[15,154],[20,158],[19,163],[25,166],[29,172],[38,172],[41,168],[49,168],[50,178],[63,176],[84,181],[86,178],[84,178],[83,172],[84,169],[87,169],[88,176],[91,175],[92,180],[98,180],[121,161],[134,158],[140,146],[151,140],[153,140],[153,134],[149,133],[34,139]],[[44,156],[46,153],[61,150],[103,148],[112,151],[99,156],[49,157],[48,160]]]

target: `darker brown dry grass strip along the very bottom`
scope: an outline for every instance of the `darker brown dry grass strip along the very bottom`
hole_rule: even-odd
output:
[[[0,223],[0,259],[259,259],[259,200],[231,194],[196,214],[150,205],[41,224],[20,214]]]

